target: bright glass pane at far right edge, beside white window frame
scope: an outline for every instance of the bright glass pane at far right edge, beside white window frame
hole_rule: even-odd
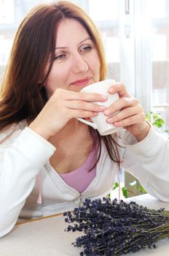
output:
[[[152,1],[152,108],[169,128],[169,1]]]

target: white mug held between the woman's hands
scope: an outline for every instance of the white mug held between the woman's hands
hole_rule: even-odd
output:
[[[94,103],[96,103],[98,105],[103,105],[107,108],[107,107],[109,107],[109,105],[111,105],[117,99],[119,99],[118,93],[109,94],[109,92],[108,92],[109,88],[111,86],[113,86],[114,83],[115,83],[115,81],[112,79],[102,80],[98,83],[93,83],[93,84],[90,84],[90,86],[84,87],[81,91],[106,95],[108,97],[106,102],[94,102]],[[105,116],[102,112],[99,112],[98,116],[91,118],[91,120],[93,122],[84,120],[83,118],[77,118],[77,119],[79,121],[82,121],[82,123],[84,123],[84,124],[90,125],[90,127],[93,127],[94,129],[98,129],[98,132],[102,136],[110,135],[114,132],[117,132],[119,129],[122,129],[122,127],[114,127],[113,124],[108,124],[106,122],[106,118],[107,118],[107,116]]]

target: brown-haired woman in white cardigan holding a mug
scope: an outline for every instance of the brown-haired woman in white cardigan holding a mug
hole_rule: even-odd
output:
[[[18,216],[56,214],[103,197],[119,165],[149,193],[169,200],[168,141],[146,123],[138,100],[123,83],[109,90],[120,98],[106,109],[93,104],[104,95],[80,92],[105,78],[98,31],[76,5],[41,5],[20,24],[1,87],[0,236]],[[76,119],[99,112],[125,129],[101,137]]]

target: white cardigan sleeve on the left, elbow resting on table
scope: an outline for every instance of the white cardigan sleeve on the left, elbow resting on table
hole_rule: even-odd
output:
[[[14,227],[37,174],[55,151],[28,127],[15,137],[0,144],[0,237]]]

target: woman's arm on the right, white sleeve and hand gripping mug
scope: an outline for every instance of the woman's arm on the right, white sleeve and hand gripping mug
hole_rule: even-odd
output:
[[[150,129],[144,109],[138,99],[130,97],[124,83],[116,83],[109,89],[110,94],[116,92],[119,99],[104,113],[109,124],[126,129],[128,138],[123,140],[128,141],[122,166],[141,181],[147,192],[169,201],[169,140],[155,132],[153,127]]]

